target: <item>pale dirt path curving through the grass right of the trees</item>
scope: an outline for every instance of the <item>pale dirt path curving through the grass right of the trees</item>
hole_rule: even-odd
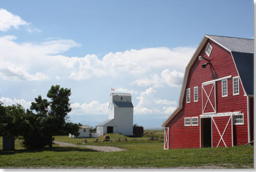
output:
[[[53,141],[54,144],[59,144],[59,146],[75,146],[75,147],[86,147],[88,149],[93,149],[99,152],[120,152],[120,151],[124,151],[126,149],[121,149],[118,147],[114,147],[114,146],[91,146],[91,145],[75,145],[75,144],[69,144],[69,143],[64,143],[61,141]]]

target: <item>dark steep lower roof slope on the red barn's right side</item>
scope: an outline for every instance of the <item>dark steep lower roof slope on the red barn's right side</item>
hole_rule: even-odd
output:
[[[247,95],[254,95],[254,71],[253,71],[253,59],[254,55],[252,53],[244,52],[232,52],[233,58],[238,69],[238,73],[241,79],[241,82],[244,85],[244,90]]]

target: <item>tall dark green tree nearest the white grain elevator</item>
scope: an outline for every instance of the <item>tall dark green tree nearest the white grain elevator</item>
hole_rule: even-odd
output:
[[[67,122],[67,114],[71,112],[70,95],[70,89],[56,85],[51,86],[48,91],[47,96],[50,101],[42,99],[41,95],[34,99],[30,111],[26,113],[31,125],[28,125],[29,133],[23,133],[23,146],[27,148],[51,147],[53,136],[59,133],[79,135],[80,123]]]

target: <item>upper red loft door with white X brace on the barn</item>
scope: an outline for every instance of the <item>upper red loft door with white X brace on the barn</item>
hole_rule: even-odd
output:
[[[216,87],[215,82],[202,84],[202,113],[216,113]]]

